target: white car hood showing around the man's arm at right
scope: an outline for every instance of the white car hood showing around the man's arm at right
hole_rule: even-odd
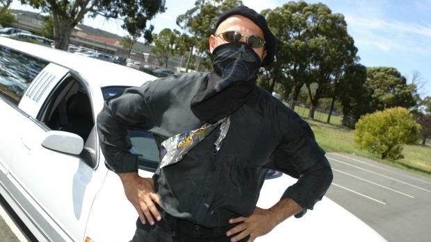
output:
[[[295,178],[282,175],[266,180],[263,184],[258,207],[269,208],[282,197],[286,187],[294,184]],[[313,210],[307,211],[302,218],[288,218],[273,231],[257,238],[257,242],[267,241],[386,241],[373,228],[351,214],[349,211],[323,197]]]

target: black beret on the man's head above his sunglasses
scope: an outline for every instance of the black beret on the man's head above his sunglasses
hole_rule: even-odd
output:
[[[266,19],[262,15],[259,15],[256,11],[251,8],[247,8],[246,6],[238,6],[235,8],[231,8],[226,10],[225,12],[218,17],[217,24],[215,24],[215,29],[222,23],[223,20],[227,19],[231,15],[241,15],[250,19],[254,22],[261,30],[263,31],[263,35],[265,35],[265,47],[266,47],[266,57],[263,59],[262,67],[266,67],[269,64],[274,62],[275,55],[275,38],[273,33],[271,33],[268,24],[266,24]]]

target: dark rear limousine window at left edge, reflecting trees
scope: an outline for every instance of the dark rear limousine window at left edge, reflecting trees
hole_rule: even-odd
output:
[[[48,62],[0,46],[0,95],[18,105],[27,87]]]

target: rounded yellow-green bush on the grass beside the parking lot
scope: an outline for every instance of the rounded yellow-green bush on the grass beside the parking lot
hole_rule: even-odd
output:
[[[404,107],[366,114],[356,124],[355,142],[382,159],[403,158],[402,145],[418,140],[421,126]]]

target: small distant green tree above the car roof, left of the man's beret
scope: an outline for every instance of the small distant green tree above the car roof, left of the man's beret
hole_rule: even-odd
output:
[[[168,60],[176,52],[179,37],[179,31],[175,29],[171,31],[169,28],[164,28],[154,36],[155,47],[152,49],[152,53],[156,55],[160,64],[165,64],[165,68],[168,68]]]

